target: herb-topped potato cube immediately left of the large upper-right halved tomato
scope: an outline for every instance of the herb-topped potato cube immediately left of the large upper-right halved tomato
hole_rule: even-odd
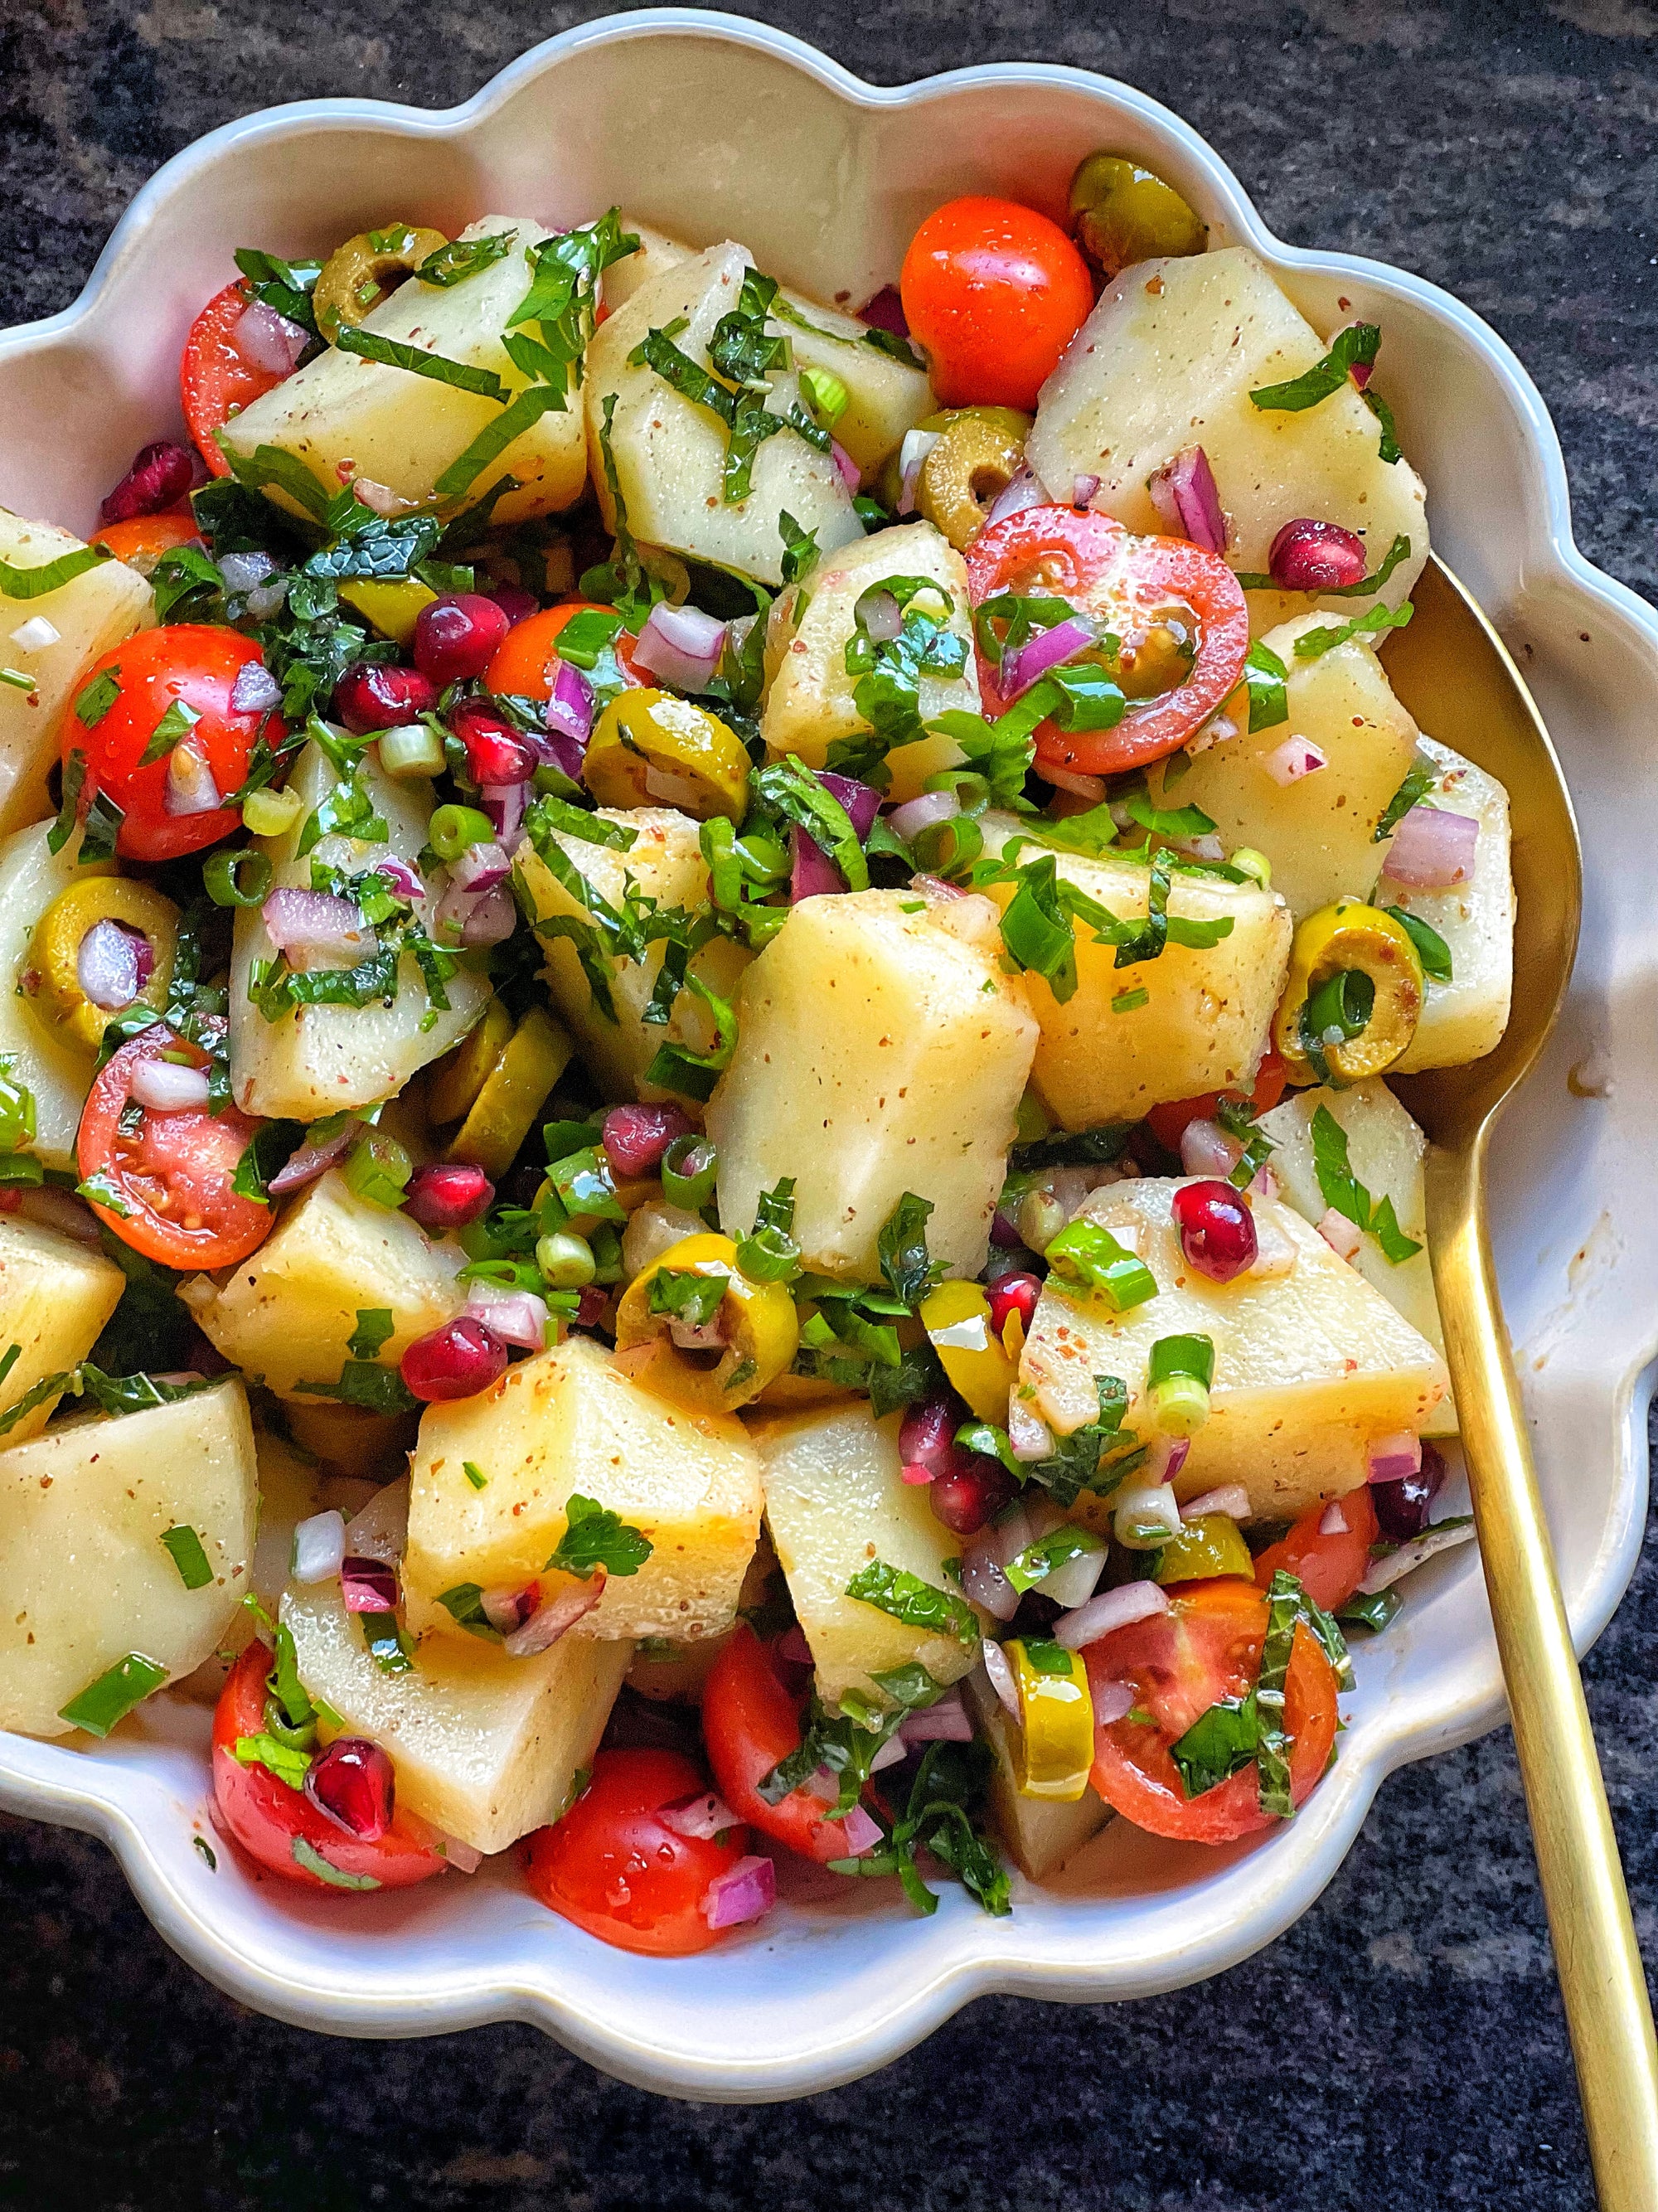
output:
[[[889,575],[928,575],[951,597],[951,630],[966,639],[966,668],[957,677],[922,677],[922,721],[948,710],[979,712],[979,670],[973,653],[973,604],[966,562],[931,522],[906,522],[842,546],[774,604],[767,630],[767,692],[760,737],[772,759],[791,752],[807,768],[822,768],[829,748],[869,730],[853,706],[856,677],[847,675],[847,646],[858,635],[853,608],[871,584]],[[928,776],[955,768],[962,748],[953,737],[924,737],[886,757],[891,796],[915,799]]]

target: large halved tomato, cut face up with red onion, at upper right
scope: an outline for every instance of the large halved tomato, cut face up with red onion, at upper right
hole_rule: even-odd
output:
[[[1231,697],[1249,653],[1249,608],[1216,553],[1185,538],[1134,538],[1092,509],[1028,507],[982,531],[966,555],[973,604],[997,593],[1068,599],[1130,644],[1174,615],[1196,630],[1196,659],[1172,690],[1130,703],[1114,730],[1037,728],[1037,768],[1114,776],[1176,752]],[[1004,710],[995,661],[979,655],[984,712]]]

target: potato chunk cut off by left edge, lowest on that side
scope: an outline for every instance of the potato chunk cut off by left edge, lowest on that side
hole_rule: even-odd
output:
[[[237,1378],[0,1451],[0,1728],[69,1734],[60,1708],[128,1652],[188,1674],[248,1590],[259,1506]],[[195,1528],[199,1590],[161,1544]]]

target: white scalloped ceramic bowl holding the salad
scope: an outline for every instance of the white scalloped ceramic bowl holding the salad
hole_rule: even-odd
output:
[[[988,190],[1059,215],[1072,168],[1099,146],[1169,177],[1211,237],[1251,246],[1322,330],[1353,314],[1384,325],[1388,396],[1428,480],[1435,544],[1514,648],[1572,781],[1583,949],[1492,1179],[1503,1296],[1583,1648],[1629,1582],[1647,1500],[1658,1188],[1638,1102],[1658,1095],[1658,617],[1574,549],[1547,411],[1455,299],[1375,261],[1282,246],[1209,146],[1130,86],[1008,64],[875,91],[760,24],[648,11],[537,46],[449,113],[312,102],[230,124],[170,161],[77,305],[0,334],[0,502],[91,529],[135,447],[177,425],[179,343],[241,243],[327,252],[387,210],[453,232],[522,208],[562,228],[619,201],[696,241],[743,239],[825,301],[862,301],[895,279],[937,201]],[[1435,734],[1459,741],[1455,728]],[[0,1736],[0,1803],[102,1836],[170,1944],[301,2026],[424,2035],[531,2020],[654,2090],[794,2097],[884,2064],[988,1991],[1147,1995],[1289,1927],[1384,1774],[1501,1719],[1472,1551],[1413,1582],[1399,1624],[1360,1650],[1357,1677],[1340,1765],[1293,1825],[1253,1847],[1161,1845],[1114,1823],[1059,1889],[1017,1882],[1008,1920],[953,1887],[931,1920],[849,1887],[679,1962],[610,1951],[557,1920],[511,1860],[349,1902],[259,1880],[228,1849],[210,1871],[192,1849],[206,1717],[166,1697],[97,1747]]]

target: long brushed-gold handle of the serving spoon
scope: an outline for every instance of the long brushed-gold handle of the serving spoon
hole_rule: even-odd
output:
[[[1601,2212],[1658,2208],[1658,2046],[1486,1237],[1486,1141],[1428,1150],[1433,1279]]]

